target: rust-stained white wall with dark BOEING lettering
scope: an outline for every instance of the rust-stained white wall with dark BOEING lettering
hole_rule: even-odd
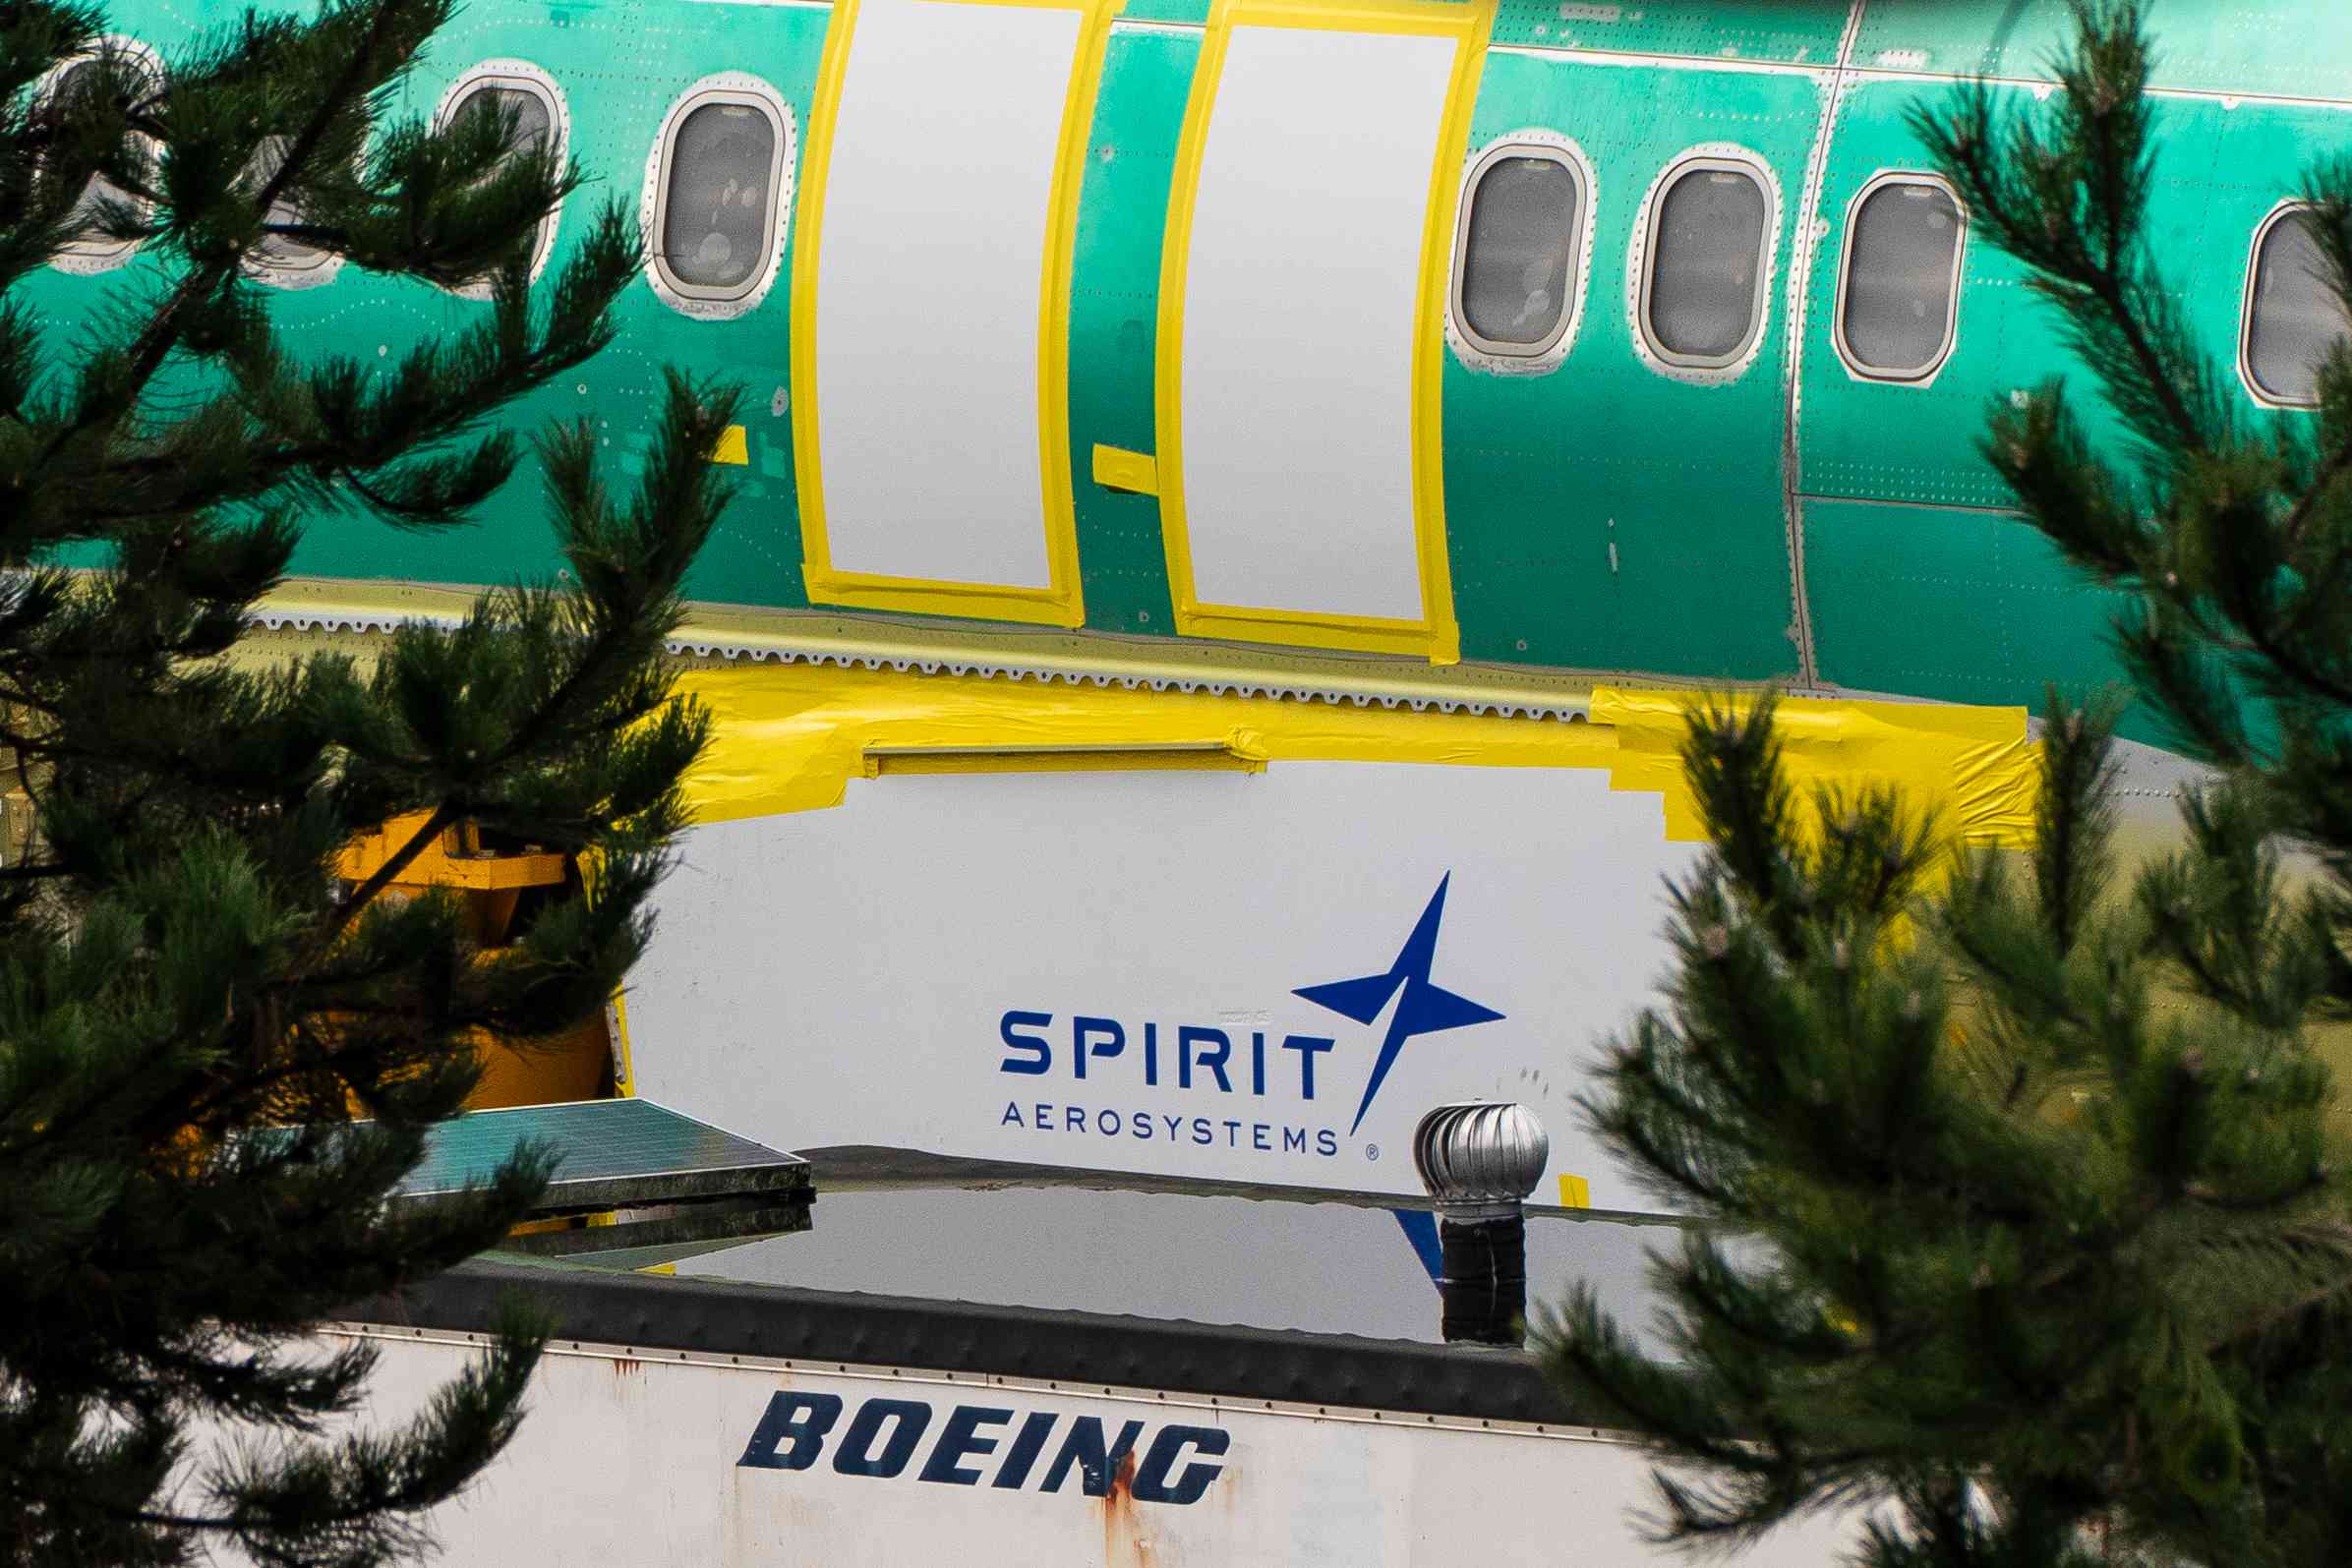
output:
[[[376,1420],[477,1354],[360,1333]],[[793,1420],[757,1439],[779,1396]],[[1082,1453],[1054,1476],[1073,1439],[1115,1450],[1129,1425],[1094,1486]],[[555,1347],[515,1446],[435,1528],[454,1568],[1649,1568],[1646,1472],[1590,1429]],[[1823,1568],[1849,1530],[1797,1523],[1740,1563]]]

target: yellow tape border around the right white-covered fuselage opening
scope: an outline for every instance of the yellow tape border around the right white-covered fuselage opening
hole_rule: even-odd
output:
[[[1232,637],[1308,649],[1418,654],[1430,663],[1461,661],[1454,618],[1454,569],[1446,559],[1444,489],[1444,299],[1454,261],[1454,214],[1461,169],[1470,153],[1470,110],[1486,63],[1496,0],[1216,0],[1192,96],[1176,143],[1167,240],[1160,252],[1160,350],[1155,423],[1160,442],[1160,531],[1169,562],[1176,630],[1188,637]],[[1430,160],[1421,223],[1421,277],[1414,303],[1414,543],[1421,571],[1421,621],[1336,616],[1319,611],[1204,604],[1192,585],[1192,536],[1183,510],[1183,296],[1192,254],[1192,202],[1200,195],[1209,120],[1232,31],[1308,28],[1324,33],[1411,33],[1456,38],[1454,75]]]

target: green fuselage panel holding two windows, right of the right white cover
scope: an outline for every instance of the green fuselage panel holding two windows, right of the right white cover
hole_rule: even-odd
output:
[[[1599,193],[1566,360],[1498,376],[1446,357],[1446,534],[1465,658],[1705,679],[1795,672],[1780,362],[1818,94],[1813,78],[1785,73],[1486,61],[1472,148],[1531,127],[1573,136]],[[1651,181],[1679,153],[1724,141],[1778,176],[1780,233],[1759,353],[1738,381],[1693,386],[1635,353],[1628,237]]]

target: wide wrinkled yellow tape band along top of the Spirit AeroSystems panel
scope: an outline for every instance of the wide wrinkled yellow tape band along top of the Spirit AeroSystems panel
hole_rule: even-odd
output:
[[[1686,705],[1703,701],[1691,691],[1597,686],[1592,722],[1564,724],[835,665],[684,670],[677,686],[715,719],[687,780],[703,823],[837,806],[851,778],[868,778],[870,752],[1096,752],[1103,766],[1134,766],[1138,755],[1188,750],[1265,764],[1606,769],[1611,788],[1661,797],[1661,837],[1703,837],[1677,757]],[[1896,785],[1969,844],[2032,837],[2037,759],[2023,708],[1790,698],[1780,722],[1799,792]]]

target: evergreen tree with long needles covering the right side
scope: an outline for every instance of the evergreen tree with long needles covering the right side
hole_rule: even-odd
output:
[[[1543,1333],[1672,1460],[1653,1523],[1689,1547],[1875,1502],[1877,1568],[2352,1561],[2352,1225],[2314,1053],[2352,1009],[2352,355],[2317,418],[2237,397],[2147,237],[2143,5],[2077,24],[2046,103],[1978,87],[1915,129],[2124,437],[2051,383],[1992,411],[1985,456],[2129,592],[2138,698],[2211,780],[2129,875],[2122,698],[2053,693],[2032,853],[1952,870],[1886,792],[1797,799],[1771,701],[1693,715],[1712,849],[1672,891],[1665,1004],[1585,1105],[1700,1220],[1653,1260],[1672,1354],[1590,1293]],[[2307,200],[2352,310],[2352,160]]]

